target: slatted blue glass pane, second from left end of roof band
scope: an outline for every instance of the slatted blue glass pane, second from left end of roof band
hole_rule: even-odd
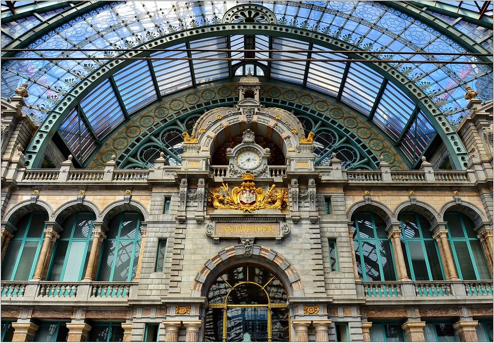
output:
[[[125,120],[110,80],[106,80],[81,101],[81,107],[98,138]]]

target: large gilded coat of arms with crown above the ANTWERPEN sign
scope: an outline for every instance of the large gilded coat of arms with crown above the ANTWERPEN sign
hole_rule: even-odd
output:
[[[250,172],[242,175],[240,187],[234,187],[229,191],[228,184],[222,184],[221,188],[213,188],[209,191],[208,204],[216,209],[238,209],[242,212],[253,210],[282,209],[288,205],[288,191],[282,188],[275,190],[275,185],[265,191],[254,183],[255,175]]]

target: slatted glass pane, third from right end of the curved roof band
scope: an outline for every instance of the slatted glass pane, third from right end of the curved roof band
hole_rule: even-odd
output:
[[[341,100],[364,114],[370,114],[384,77],[362,63],[351,63]]]

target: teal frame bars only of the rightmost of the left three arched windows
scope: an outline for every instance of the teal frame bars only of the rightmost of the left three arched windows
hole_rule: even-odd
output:
[[[124,216],[125,214],[136,214],[137,215],[137,224],[136,224],[136,227],[135,227],[135,236],[134,238],[120,238],[120,235],[121,235],[121,232],[122,232],[122,227],[123,227],[123,220],[124,220]],[[137,264],[137,261],[138,261],[138,256],[135,256],[135,252],[136,250],[140,250],[140,244],[141,244],[141,238],[142,238],[142,235],[141,235],[141,232],[140,232],[140,223],[141,223],[141,220],[142,220],[142,214],[139,213],[139,212],[135,212],[135,211],[125,211],[125,212],[120,212],[119,214],[115,215],[111,221],[115,220],[115,217],[119,216],[119,228],[118,228],[118,232],[117,232],[117,235],[115,238],[109,238],[107,237],[104,241],[103,241],[103,244],[101,246],[101,252],[100,252],[100,256],[99,256],[99,264],[98,264],[98,270],[97,270],[97,274],[96,274],[96,280],[98,281],[108,281],[108,282],[117,282],[117,281],[114,281],[114,274],[115,274],[115,267],[116,267],[116,262],[118,261],[117,257],[119,255],[119,250],[120,250],[120,243],[122,242],[132,242],[133,244],[133,248],[132,248],[132,255],[131,255],[131,258],[130,258],[130,262],[129,262],[129,274],[127,275],[127,279],[124,280],[124,281],[119,281],[119,282],[131,282],[132,279],[134,278],[134,267],[136,267],[136,264]],[[110,223],[111,223],[110,221]],[[103,254],[104,254],[104,251],[105,251],[105,247],[106,245],[108,244],[111,244],[112,242],[115,242],[115,251],[113,252],[113,259],[112,259],[112,266],[111,266],[111,269],[110,269],[110,276],[109,276],[109,279],[108,280],[100,280],[99,277],[100,277],[100,271],[101,271],[101,264],[103,263]]]

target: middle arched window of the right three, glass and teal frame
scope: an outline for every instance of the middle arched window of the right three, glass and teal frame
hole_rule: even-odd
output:
[[[439,249],[432,238],[427,219],[415,212],[404,212],[399,219],[402,222],[400,239],[408,276],[414,281],[444,280]]]

